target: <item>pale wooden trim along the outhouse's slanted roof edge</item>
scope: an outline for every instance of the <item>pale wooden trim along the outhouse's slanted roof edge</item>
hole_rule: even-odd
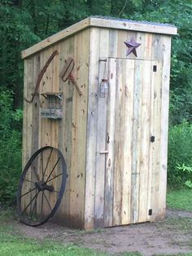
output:
[[[112,18],[108,16],[95,15],[95,16],[90,16],[85,20],[81,20],[80,22],[73,24],[67,29],[61,30],[59,33],[55,33],[50,38],[46,38],[45,40],[38,42],[34,46],[31,46],[30,48],[22,51],[21,56],[23,59],[25,59],[28,56],[33,55],[38,51],[41,51],[47,46],[51,46],[55,42],[59,42],[60,40],[63,40],[63,38],[67,38],[72,34],[77,33],[88,27],[124,29],[124,30],[148,32],[148,33],[161,33],[161,34],[168,34],[168,35],[177,34],[177,28],[172,24],[160,24],[160,23],[153,23],[153,22],[147,22],[147,21],[124,20],[124,19]]]

